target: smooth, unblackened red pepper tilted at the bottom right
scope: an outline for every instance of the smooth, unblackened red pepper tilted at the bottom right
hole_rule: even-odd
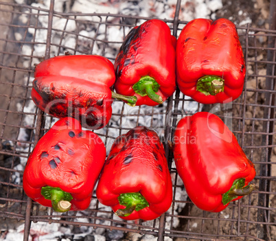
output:
[[[222,211],[250,194],[253,163],[222,120],[199,112],[184,117],[174,135],[174,161],[192,202],[206,211]]]

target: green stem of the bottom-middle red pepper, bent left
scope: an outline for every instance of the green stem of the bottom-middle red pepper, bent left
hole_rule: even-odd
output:
[[[149,204],[139,192],[130,192],[126,194],[120,194],[118,196],[119,204],[126,206],[124,209],[118,209],[115,214],[117,216],[126,217],[133,213],[133,211],[140,211],[145,207],[149,207]]]

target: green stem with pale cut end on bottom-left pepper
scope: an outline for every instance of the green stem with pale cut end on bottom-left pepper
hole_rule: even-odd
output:
[[[51,200],[54,211],[65,212],[71,209],[71,194],[62,191],[59,187],[42,187],[41,194],[45,199]]]

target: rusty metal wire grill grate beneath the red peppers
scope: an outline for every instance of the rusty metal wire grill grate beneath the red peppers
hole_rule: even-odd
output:
[[[242,200],[235,201],[231,203],[228,207],[231,210],[229,213],[231,217],[225,218],[222,214],[210,214],[206,211],[200,211],[197,209],[196,214],[192,211],[193,204],[187,198],[187,200],[178,200],[176,198],[176,189],[183,190],[183,184],[179,184],[178,175],[176,172],[176,168],[173,165],[173,154],[168,145],[168,140],[171,140],[174,134],[174,127],[176,123],[181,117],[185,115],[189,115],[190,113],[183,110],[185,104],[189,104],[189,102],[193,102],[189,100],[187,97],[183,97],[183,95],[176,91],[175,95],[170,97],[167,101],[166,106],[164,107],[163,112],[160,114],[156,108],[151,108],[151,111],[146,114],[141,114],[139,108],[137,113],[137,123],[139,121],[139,117],[141,115],[147,115],[150,118],[149,127],[157,127],[161,131],[161,138],[163,140],[163,144],[165,146],[166,156],[168,158],[170,172],[173,178],[173,188],[174,188],[174,200],[172,203],[172,210],[168,211],[166,214],[163,214],[157,220],[153,222],[126,222],[124,220],[116,218],[112,211],[102,211],[100,208],[100,204],[97,202],[95,205],[95,209],[89,209],[88,213],[82,216],[78,216],[78,218],[88,218],[89,222],[80,222],[76,221],[77,213],[76,212],[68,212],[65,215],[60,215],[54,213],[52,210],[49,214],[45,214],[45,212],[41,211],[41,206],[37,203],[32,202],[30,198],[23,192],[22,183],[17,185],[12,181],[12,174],[19,174],[22,178],[23,170],[15,170],[14,163],[16,158],[21,157],[23,159],[27,159],[37,143],[38,139],[48,130],[48,127],[45,126],[45,122],[52,123],[54,119],[49,117],[49,115],[45,115],[42,111],[36,109],[34,113],[29,113],[24,111],[25,105],[31,101],[30,99],[30,89],[32,88],[30,84],[30,80],[32,79],[32,74],[34,72],[34,66],[32,66],[33,58],[50,58],[51,56],[51,47],[57,47],[58,51],[56,55],[64,54],[62,52],[62,48],[72,51],[72,54],[76,54],[76,48],[65,47],[62,45],[62,38],[65,34],[72,34],[76,36],[78,39],[78,32],[69,32],[66,30],[67,23],[65,24],[65,28],[63,30],[55,30],[53,28],[53,19],[54,17],[59,19],[69,19],[76,21],[76,24],[87,23],[88,21],[79,19],[81,16],[95,16],[99,20],[95,21],[96,30],[95,30],[95,38],[89,38],[91,42],[90,49],[91,52],[83,52],[80,54],[93,54],[93,45],[95,41],[100,41],[102,43],[102,55],[106,55],[106,46],[110,43],[107,41],[107,33],[109,25],[117,25],[119,27],[131,27],[134,26],[139,19],[149,19],[141,16],[126,16],[119,14],[81,14],[81,13],[60,13],[54,12],[54,0],[51,0],[49,10],[44,10],[40,8],[30,7],[29,5],[16,5],[11,3],[3,3],[0,2],[1,5],[8,6],[10,10],[3,10],[0,8],[2,12],[8,12],[11,15],[11,21],[7,24],[2,24],[2,26],[6,26],[9,28],[9,31],[19,29],[20,27],[24,30],[22,41],[15,41],[9,38],[9,35],[0,38],[0,41],[4,43],[3,51],[0,51],[0,76],[1,81],[0,84],[3,86],[10,87],[10,93],[0,93],[0,97],[5,98],[6,100],[6,108],[0,109],[0,115],[3,115],[3,119],[0,122],[0,139],[1,141],[10,141],[13,144],[13,148],[10,150],[0,150],[0,154],[9,155],[12,157],[12,163],[10,167],[0,166],[1,173],[5,173],[8,176],[8,181],[0,181],[1,188],[5,187],[5,196],[1,196],[0,200],[4,203],[0,208],[0,216],[5,220],[16,219],[16,220],[24,220],[25,222],[25,231],[24,231],[24,241],[28,240],[28,236],[30,233],[30,226],[32,222],[58,222],[64,225],[76,225],[76,226],[89,226],[94,228],[104,228],[104,229],[117,229],[124,232],[135,232],[135,233],[146,233],[152,234],[153,236],[157,236],[158,240],[164,240],[166,236],[170,238],[187,238],[194,240],[273,240],[271,237],[271,227],[276,225],[276,207],[271,206],[271,202],[276,194],[275,190],[275,181],[276,176],[273,176],[273,165],[276,162],[272,161],[273,158],[273,149],[275,152],[276,144],[275,140],[273,140],[273,135],[275,135],[275,64],[276,64],[276,31],[275,31],[275,1],[271,1],[271,29],[257,29],[253,28],[250,25],[245,27],[237,27],[240,33],[240,39],[242,43],[242,47],[244,49],[245,59],[246,59],[246,67],[249,65],[253,68],[253,73],[246,73],[246,82],[255,80],[256,88],[249,88],[246,84],[244,84],[244,91],[241,97],[238,100],[235,100],[231,106],[225,105],[207,105],[200,106],[198,104],[198,111],[203,109],[204,111],[214,111],[216,110],[216,115],[222,117],[222,119],[229,118],[231,123],[233,124],[233,133],[238,138],[240,146],[244,149],[244,152],[248,155],[249,159],[253,161],[253,163],[257,167],[257,175],[253,181],[259,187],[258,190],[253,192],[253,194],[248,197],[242,198]],[[27,24],[25,26],[19,26],[13,23],[14,17],[22,14],[19,10],[28,9],[30,13],[25,13],[27,16]],[[181,0],[177,1],[176,11],[174,13],[174,19],[162,19],[168,25],[170,25],[172,29],[172,34],[174,36],[178,36],[183,25],[187,22],[179,20],[179,12],[181,9]],[[32,12],[32,11],[35,11]],[[43,28],[38,25],[38,19],[41,16],[47,16],[48,18],[48,26]],[[108,21],[108,18],[118,18],[120,22],[117,24],[111,23]],[[132,19],[134,21],[133,25],[127,24],[124,20]],[[34,21],[34,24],[31,26],[31,20]],[[97,39],[97,32],[100,28],[100,25],[104,25],[106,34],[105,38]],[[27,41],[27,31],[28,28],[33,28],[33,38],[32,41]],[[47,32],[47,38],[45,43],[39,43],[35,41],[36,30],[45,29]],[[60,34],[60,43],[52,43],[51,35],[54,32],[59,31]],[[260,46],[257,43],[258,32],[262,32],[262,36],[266,36],[268,38],[268,44],[265,46]],[[125,33],[127,34],[127,32]],[[120,43],[115,43],[118,45]],[[18,45],[19,51],[12,52],[9,51],[9,45]],[[21,50],[24,45],[32,46],[32,54],[23,56],[21,54]],[[45,45],[45,55],[44,56],[34,56],[34,46],[35,45]],[[259,59],[260,54],[263,54],[264,57]],[[13,65],[5,64],[6,58],[8,56],[13,56],[15,62]],[[21,58],[27,58],[30,60],[30,65],[28,67],[21,66]],[[110,58],[111,60],[114,60]],[[266,68],[266,74],[260,74],[259,69]],[[8,71],[12,76],[10,82],[6,82],[3,73]],[[24,73],[26,77],[25,82],[19,82],[19,78],[16,76],[19,73]],[[260,86],[260,78],[265,78],[265,87],[258,88]],[[14,96],[14,89],[21,89],[23,92],[22,96]],[[255,97],[254,102],[248,102],[248,95],[253,95]],[[260,96],[264,95],[264,98],[260,98]],[[261,100],[260,100],[261,99]],[[14,101],[20,101],[23,104],[21,111],[14,110],[12,108],[12,104]],[[264,100],[264,102],[263,102]],[[182,106],[182,107],[181,107]],[[119,130],[119,134],[122,134],[126,128],[122,126],[122,117],[124,117],[124,104],[122,105],[121,113],[117,113],[117,117],[121,119],[119,126],[106,126],[106,134],[100,135],[105,140],[105,144],[108,139],[115,139],[115,136],[108,135],[108,130],[112,128],[116,128]],[[232,113],[232,111],[235,113]],[[246,116],[248,110],[251,110],[251,117]],[[260,110],[263,111],[260,116]],[[249,111],[250,112],[250,111]],[[230,115],[229,115],[230,113]],[[18,122],[17,124],[10,123],[10,115],[17,115]],[[152,126],[154,115],[163,115],[165,122],[160,126]],[[32,124],[25,126],[23,124],[23,118],[25,116],[33,117]],[[262,130],[258,129],[257,126],[262,126]],[[9,136],[7,134],[7,130],[13,128],[16,130],[13,136]],[[30,130],[30,141],[19,141],[19,130],[20,128],[25,128]],[[14,138],[15,136],[15,138]],[[260,141],[255,142],[255,137],[260,137]],[[28,146],[27,152],[18,152],[16,146],[19,144],[24,144]],[[260,154],[260,158],[256,158],[256,153]],[[274,184],[274,188],[273,188]],[[19,192],[20,195],[14,196],[14,190]],[[93,196],[95,199],[95,195]],[[257,199],[257,203],[251,203],[253,200]],[[14,203],[16,204],[15,211],[9,211],[9,207]],[[177,203],[185,203],[185,207],[181,211],[180,214],[174,213],[174,205]],[[242,211],[247,210],[248,216],[245,219],[242,216]],[[251,214],[254,213],[253,219],[251,219]],[[104,214],[105,218],[98,216],[99,214]],[[60,219],[58,219],[60,218]],[[181,221],[181,227],[174,228],[173,222],[174,219],[178,218]],[[166,226],[166,220],[170,220],[170,225]],[[200,229],[193,231],[191,228],[192,220],[199,220],[201,223]],[[229,229],[229,233],[223,233],[222,227],[231,223],[231,228]],[[216,233],[206,233],[207,225],[215,224],[216,225]]]

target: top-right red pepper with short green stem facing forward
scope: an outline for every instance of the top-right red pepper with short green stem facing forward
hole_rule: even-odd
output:
[[[176,82],[181,92],[203,104],[227,103],[242,93],[242,47],[227,19],[194,19],[176,44]]]

